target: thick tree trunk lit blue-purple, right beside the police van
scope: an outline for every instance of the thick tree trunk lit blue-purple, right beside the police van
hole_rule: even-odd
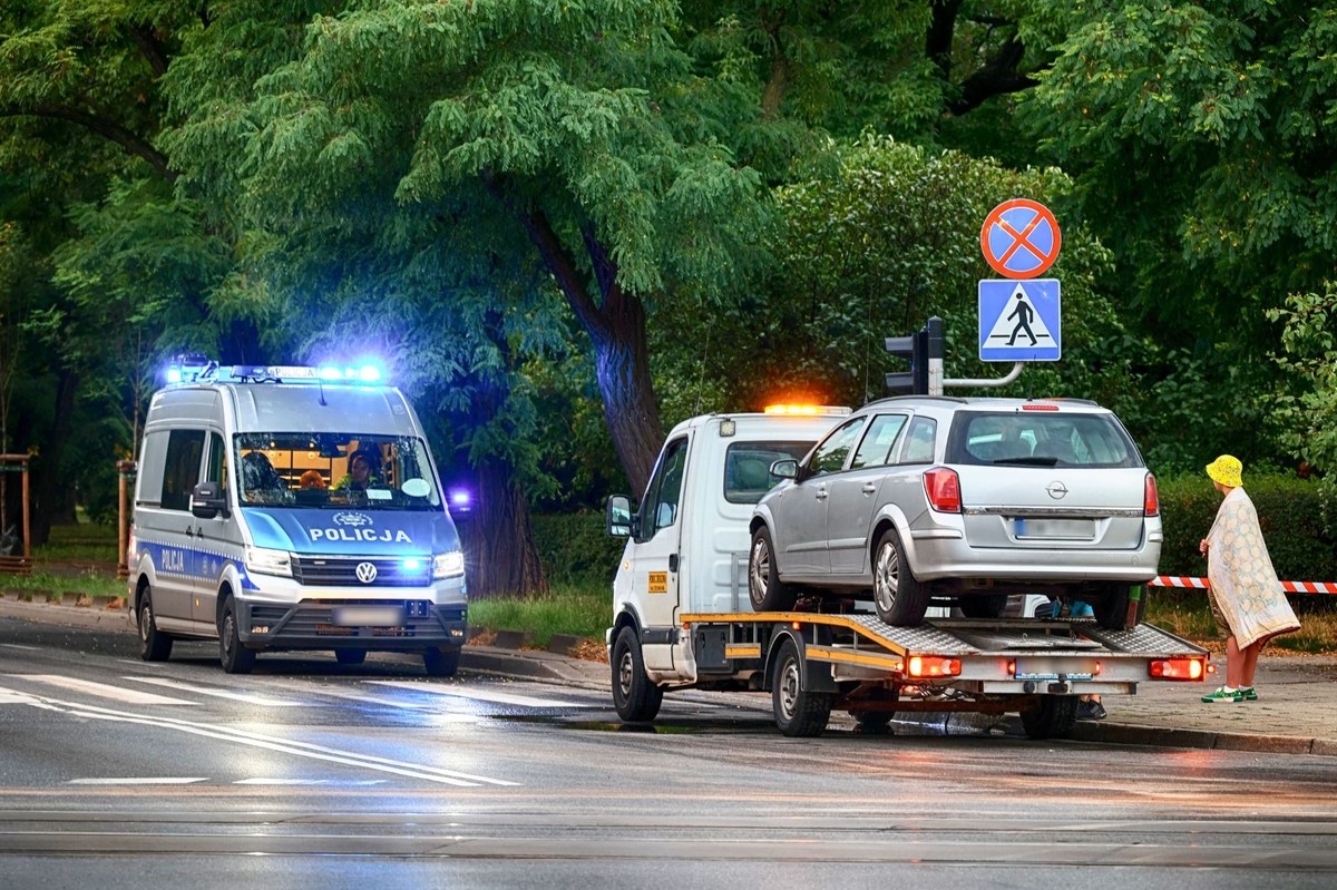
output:
[[[548,579],[533,545],[529,502],[516,485],[511,468],[489,461],[475,469],[479,478],[477,506],[472,516],[460,521],[469,597],[547,595]]]

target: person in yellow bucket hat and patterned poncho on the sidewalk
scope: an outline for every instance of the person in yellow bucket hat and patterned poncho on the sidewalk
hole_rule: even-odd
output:
[[[1274,636],[1300,629],[1267,556],[1258,510],[1242,488],[1242,474],[1243,465],[1230,454],[1207,464],[1207,477],[1225,498],[1198,549],[1207,557],[1211,613],[1227,639],[1226,684],[1202,696],[1203,702],[1257,700],[1253,680],[1262,647]]]

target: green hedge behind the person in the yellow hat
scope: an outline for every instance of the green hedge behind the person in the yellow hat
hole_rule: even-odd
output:
[[[1157,480],[1165,545],[1161,573],[1202,577],[1207,561],[1198,543],[1207,536],[1221,493],[1206,474]],[[1245,474],[1245,490],[1258,508],[1258,524],[1277,575],[1284,581],[1337,581],[1337,541],[1325,531],[1324,496],[1312,480]]]

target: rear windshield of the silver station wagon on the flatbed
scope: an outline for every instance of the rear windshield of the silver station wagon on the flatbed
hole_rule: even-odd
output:
[[[1142,466],[1142,456],[1106,413],[959,412],[947,444],[949,464],[1021,466]]]

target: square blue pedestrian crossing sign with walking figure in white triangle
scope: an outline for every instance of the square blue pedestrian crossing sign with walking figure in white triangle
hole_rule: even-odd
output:
[[[980,282],[980,361],[1056,362],[1059,322],[1058,278]]]

